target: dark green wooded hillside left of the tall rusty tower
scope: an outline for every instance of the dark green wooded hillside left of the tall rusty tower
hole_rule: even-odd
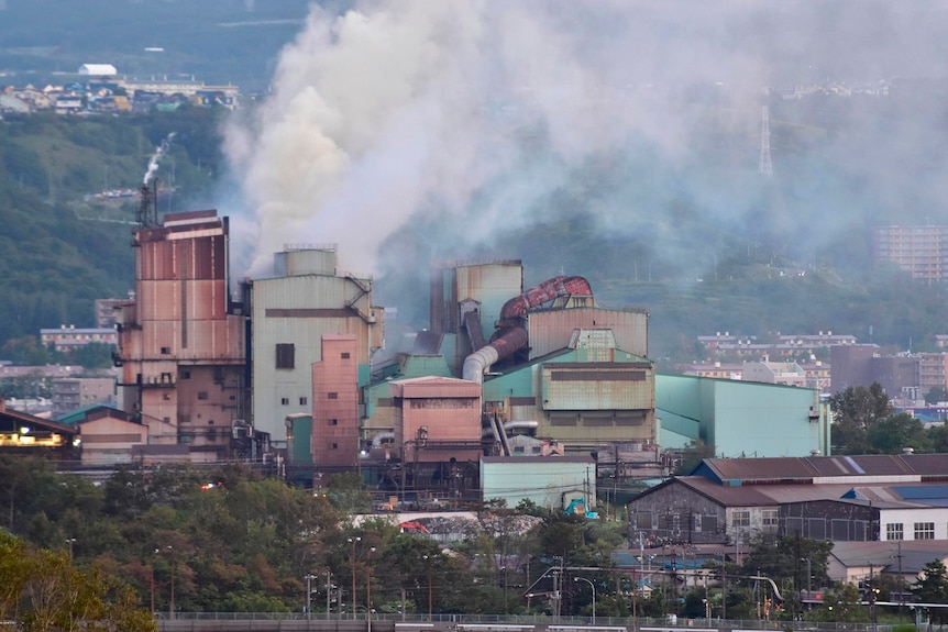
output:
[[[170,180],[174,165],[175,195],[199,195],[219,163],[216,118],[187,109],[123,118],[8,115],[0,123],[0,345],[42,328],[93,326],[95,299],[128,296],[139,199],[97,195],[140,187],[172,131],[175,143],[158,178]]]

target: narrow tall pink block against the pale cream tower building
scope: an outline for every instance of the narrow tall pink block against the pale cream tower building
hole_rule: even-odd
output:
[[[359,465],[359,337],[322,336],[322,361],[312,364],[315,467]]]

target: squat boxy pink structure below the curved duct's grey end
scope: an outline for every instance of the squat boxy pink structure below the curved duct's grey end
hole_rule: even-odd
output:
[[[448,377],[392,382],[395,450],[405,463],[481,457],[481,385]]]

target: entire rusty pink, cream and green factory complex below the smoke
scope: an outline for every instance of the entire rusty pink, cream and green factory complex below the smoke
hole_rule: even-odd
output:
[[[818,390],[658,376],[648,310],[603,307],[580,276],[525,287],[517,259],[436,262],[428,328],[387,340],[374,280],[340,270],[333,244],[285,246],[235,282],[227,218],[158,218],[147,186],[133,235],[121,410],[64,426],[84,467],[242,459],[316,488],[359,473],[388,506],[592,511],[597,489],[657,483],[696,443],[830,452]]]

